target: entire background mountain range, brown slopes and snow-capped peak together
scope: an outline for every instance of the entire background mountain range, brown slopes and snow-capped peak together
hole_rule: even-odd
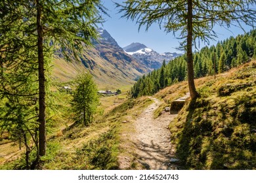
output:
[[[92,48],[85,47],[79,61],[66,61],[59,54],[53,62],[56,82],[70,82],[77,73],[89,71],[100,89],[131,86],[137,78],[161,67],[179,54],[158,54],[144,44],[133,43],[121,48],[105,29],[98,29],[100,39]]]

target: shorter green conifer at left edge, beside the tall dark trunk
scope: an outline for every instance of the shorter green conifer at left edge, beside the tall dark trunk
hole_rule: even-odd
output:
[[[0,133],[7,131],[20,148],[25,146],[24,168],[31,169],[36,159],[30,154],[38,152],[38,88],[37,77],[26,61],[22,68],[16,64],[5,68],[5,74],[0,77]]]

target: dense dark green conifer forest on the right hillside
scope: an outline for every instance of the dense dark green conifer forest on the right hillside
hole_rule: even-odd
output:
[[[194,77],[214,75],[214,70],[217,73],[223,73],[247,62],[248,58],[255,54],[254,50],[256,49],[251,48],[253,46],[250,45],[253,43],[245,44],[245,42],[255,40],[255,36],[256,30],[253,30],[245,35],[238,35],[236,38],[230,37],[219,42],[217,46],[203,47],[200,52],[194,54]],[[246,54],[245,50],[248,49],[251,51]],[[216,68],[214,68],[215,61]],[[131,96],[136,98],[142,95],[152,95],[166,86],[186,80],[186,72],[186,56],[183,55],[167,64],[164,63],[160,69],[154,70],[149,75],[139,78],[131,89]],[[242,75],[245,77],[246,73],[243,72]],[[231,88],[230,86],[229,90]],[[221,92],[224,88],[219,88],[219,90]]]

